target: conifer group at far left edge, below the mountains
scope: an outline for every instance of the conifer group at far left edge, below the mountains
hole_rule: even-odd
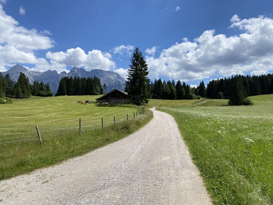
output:
[[[3,76],[0,72],[0,97],[29,98],[30,96],[53,96],[53,92],[48,83],[34,81],[31,84],[28,77],[22,72],[17,82],[13,82],[9,74]]]

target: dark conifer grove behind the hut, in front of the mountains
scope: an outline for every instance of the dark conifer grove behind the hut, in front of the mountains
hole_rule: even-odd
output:
[[[107,86],[102,87],[100,78],[90,77],[68,77],[65,76],[60,80],[58,91],[55,96],[59,95],[99,95],[107,92]]]

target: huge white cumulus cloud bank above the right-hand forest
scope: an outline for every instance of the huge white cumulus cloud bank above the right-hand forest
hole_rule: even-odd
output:
[[[216,73],[267,73],[273,67],[273,20],[259,16],[240,20],[231,18],[231,28],[239,28],[239,36],[215,35],[206,30],[193,42],[184,38],[164,49],[158,58],[146,57],[149,77],[159,75],[175,80],[199,80]]]

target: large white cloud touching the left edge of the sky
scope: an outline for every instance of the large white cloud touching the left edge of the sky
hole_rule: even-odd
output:
[[[39,63],[34,51],[52,47],[54,40],[35,29],[19,26],[19,22],[8,16],[0,4],[0,71],[6,71],[6,66],[13,63]]]

